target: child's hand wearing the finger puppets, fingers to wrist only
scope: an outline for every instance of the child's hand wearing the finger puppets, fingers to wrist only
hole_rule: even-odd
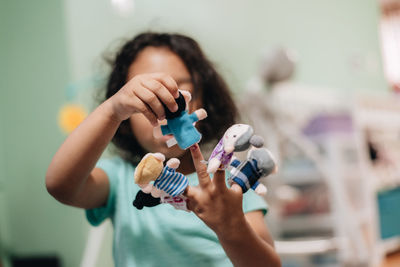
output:
[[[190,147],[190,152],[199,185],[188,186],[185,192],[188,209],[217,235],[229,235],[230,231],[246,222],[242,209],[242,189],[237,184],[231,188],[226,186],[225,171],[217,171],[211,179],[197,144]]]

